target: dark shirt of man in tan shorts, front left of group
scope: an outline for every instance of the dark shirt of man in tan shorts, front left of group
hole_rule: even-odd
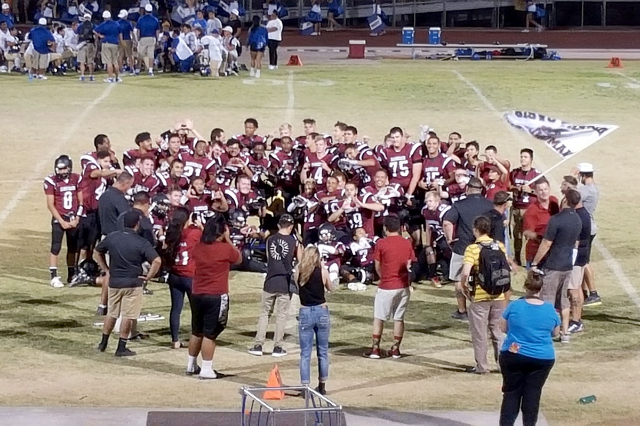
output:
[[[142,264],[152,262],[158,253],[149,241],[138,235],[133,229],[115,231],[98,244],[96,250],[109,253],[109,287],[141,287]]]

